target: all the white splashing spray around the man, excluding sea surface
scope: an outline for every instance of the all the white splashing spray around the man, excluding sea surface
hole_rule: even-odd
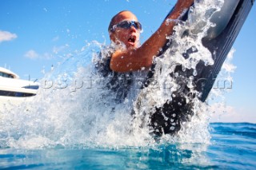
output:
[[[157,58],[155,77],[158,85],[166,88],[152,87],[154,90],[146,91],[146,100],[141,103],[141,110],[137,110],[137,114],[144,113],[149,105],[160,106],[172,97],[178,85],[168,75],[177,63],[182,64],[184,69],[194,69],[199,60],[205,61],[206,65],[214,64],[210,52],[201,42],[206,30],[213,26],[209,21],[211,14],[221,6],[221,3],[217,5],[221,1],[214,2],[196,1],[196,8],[190,10],[189,22],[180,22],[175,27],[176,34],[170,37],[175,41],[162,57]],[[197,18],[203,19],[199,21]],[[190,31],[190,36],[182,38],[186,31]],[[142,128],[142,122],[134,121],[130,114],[138,88],[134,87],[137,90],[120,104],[115,103],[114,93],[104,88],[107,80],[95,72],[94,60],[92,62],[91,59],[95,59],[102,48],[103,45],[98,42],[86,45],[46,74],[33,101],[2,113],[0,146],[127,147],[156,144],[149,128]],[[197,53],[191,53],[185,60],[182,53],[190,48]],[[209,143],[207,106],[199,101],[194,103],[195,115],[191,122],[182,125],[177,136],[162,136],[158,141],[160,144]]]

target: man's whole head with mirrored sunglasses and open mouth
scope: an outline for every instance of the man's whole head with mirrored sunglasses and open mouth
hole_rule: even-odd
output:
[[[124,10],[114,15],[109,26],[110,40],[116,44],[122,42],[126,48],[137,48],[142,26],[134,14]]]

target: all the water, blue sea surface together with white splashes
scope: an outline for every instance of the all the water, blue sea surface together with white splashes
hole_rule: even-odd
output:
[[[216,4],[197,4],[189,21],[175,27],[170,50],[159,57],[156,80],[164,85],[173,68],[166,63],[178,62],[193,69],[199,59],[214,64],[209,51],[200,44],[212,26],[210,15],[218,11]],[[220,4],[220,5],[217,5]],[[200,10],[204,9],[204,10]],[[207,10],[208,9],[208,10]],[[202,11],[207,11],[202,13]],[[205,18],[197,21],[196,18]],[[203,21],[203,22],[202,22]],[[200,28],[196,25],[200,22]],[[190,30],[186,39],[179,34]],[[198,53],[183,60],[188,48]],[[255,163],[255,125],[210,124],[214,113],[209,105],[196,101],[195,115],[175,136],[164,135],[155,140],[148,128],[134,121],[131,110],[140,92],[138,79],[132,93],[121,103],[106,88],[107,78],[95,71],[99,52],[106,48],[98,42],[88,43],[79,53],[67,57],[57,68],[46,73],[33,101],[26,101],[0,113],[0,168],[38,169],[253,169]],[[168,60],[166,61],[166,57]],[[159,66],[160,65],[160,66]],[[230,69],[230,66],[226,68]],[[230,70],[224,70],[230,71]],[[158,74],[159,73],[159,74]],[[194,73],[196,74],[196,73]],[[222,74],[221,74],[222,75]],[[224,73],[224,75],[226,75]],[[144,75],[145,76],[145,75]],[[174,85],[175,87],[175,85]],[[147,100],[159,105],[174,89],[158,88]],[[169,90],[169,91],[168,91]],[[216,95],[215,95],[216,94]],[[210,99],[222,96],[218,89]],[[151,102],[151,101],[150,101]],[[144,112],[152,104],[142,103]]]

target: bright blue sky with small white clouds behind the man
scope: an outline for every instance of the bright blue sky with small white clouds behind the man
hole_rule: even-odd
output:
[[[174,6],[172,0],[1,0],[0,66],[10,68],[23,79],[41,78],[42,69],[82,49],[86,42],[109,44],[107,27],[120,10],[131,10],[142,22],[141,42],[146,41]],[[230,117],[221,121],[256,122],[255,39],[256,7],[250,11],[234,43],[233,89],[226,94]],[[232,114],[233,115],[232,115]],[[235,118],[234,115],[237,117]]]

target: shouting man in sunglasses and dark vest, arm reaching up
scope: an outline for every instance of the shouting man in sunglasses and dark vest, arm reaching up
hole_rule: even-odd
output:
[[[141,46],[139,36],[142,25],[134,14],[124,10],[111,19],[108,30],[112,45],[110,50],[100,53],[101,59],[96,68],[108,79],[106,88],[114,92],[115,101],[120,103],[127,97],[134,77],[138,78],[134,71],[150,68],[154,56],[157,56],[159,49],[166,44],[166,36],[173,34],[178,18],[185,14],[193,2],[194,0],[178,0],[174,10],[158,30]],[[139,78],[143,75],[142,73]]]

